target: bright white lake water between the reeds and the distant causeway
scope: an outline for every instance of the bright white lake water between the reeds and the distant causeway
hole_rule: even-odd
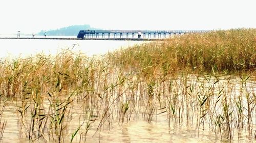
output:
[[[3,36],[2,36],[3,37]],[[61,49],[72,48],[88,56],[105,54],[118,48],[125,48],[143,41],[110,41],[110,40],[40,40],[40,39],[0,39],[0,58],[17,58],[32,56],[36,53],[55,55]]]

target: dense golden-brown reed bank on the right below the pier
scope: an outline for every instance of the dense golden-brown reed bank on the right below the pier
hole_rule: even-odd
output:
[[[111,56],[115,58],[116,64],[124,67],[139,67],[144,74],[149,72],[166,74],[179,69],[254,71],[255,37],[256,29],[190,34],[164,42],[118,50]]]

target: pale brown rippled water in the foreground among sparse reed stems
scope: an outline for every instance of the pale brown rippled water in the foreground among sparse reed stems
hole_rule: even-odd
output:
[[[247,90],[250,94],[255,94],[255,78],[252,77],[251,79],[252,80],[248,80],[247,82]],[[238,82],[238,80],[239,77],[234,77],[230,79],[230,82],[226,83],[227,81],[223,79],[221,85],[224,85],[223,83],[232,84],[233,87],[239,89],[241,87],[241,84]],[[195,78],[191,78],[189,82],[195,83]],[[45,105],[47,106],[48,104],[49,103],[47,103],[47,100],[45,99]],[[70,142],[71,135],[74,130],[77,129],[79,125],[81,125],[81,122],[84,119],[86,119],[79,118],[80,115],[85,116],[84,110],[81,108],[82,106],[83,102],[79,102],[79,100],[77,100],[70,107],[70,111],[72,111],[72,113],[68,115],[69,119],[66,120],[67,129],[64,137],[65,142]],[[182,118],[181,120],[179,120],[178,117],[174,117],[169,120],[167,112],[161,113],[163,110],[161,110],[160,108],[160,105],[157,105],[156,111],[154,112],[154,115],[152,117],[152,121],[148,122],[147,116],[143,115],[143,110],[145,109],[145,107],[138,106],[138,108],[135,109],[134,112],[129,113],[130,117],[128,117],[128,115],[124,117],[124,122],[122,124],[121,122],[119,122],[117,117],[118,106],[114,106],[112,112],[109,115],[110,118],[106,119],[106,122],[98,131],[96,130],[98,128],[101,118],[96,118],[97,120],[95,122],[90,122],[91,126],[87,133],[86,140],[84,140],[84,138],[80,140],[80,135],[82,136],[82,131],[84,131],[85,129],[84,124],[79,130],[77,136],[75,136],[73,142],[229,142],[224,137],[224,135],[222,135],[222,138],[219,133],[217,133],[216,135],[208,126],[207,120],[204,128],[200,128],[198,130],[198,127],[196,125],[196,118]],[[253,109],[252,113],[252,133],[254,134],[256,130],[255,108]],[[17,115],[18,112],[16,110],[15,103],[9,101],[4,109],[4,114],[2,117],[2,121],[7,121],[2,142],[29,142],[29,139],[26,137],[24,132],[21,131],[20,133],[18,130]],[[254,139],[247,138],[245,130],[238,131],[237,129],[233,128],[232,134],[233,139],[231,140],[231,142],[256,141]],[[48,138],[47,140],[49,142],[53,141]],[[40,138],[35,142],[45,142],[45,140]]]

